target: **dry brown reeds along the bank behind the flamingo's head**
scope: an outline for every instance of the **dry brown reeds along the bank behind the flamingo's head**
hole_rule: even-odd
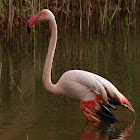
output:
[[[72,17],[78,18],[81,32],[84,20],[89,26],[91,20],[99,19],[100,30],[104,32],[107,15],[111,17],[117,9],[116,17],[131,12],[129,18],[133,19],[139,12],[140,0],[0,0],[0,24],[7,25],[7,36],[11,36],[15,26],[19,27],[20,22],[26,24],[29,17],[44,7],[51,9],[63,25],[71,23]]]

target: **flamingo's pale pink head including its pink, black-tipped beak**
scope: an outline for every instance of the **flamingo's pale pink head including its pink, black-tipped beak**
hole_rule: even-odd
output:
[[[37,21],[52,21],[55,20],[53,13],[48,9],[41,10],[37,15],[28,20],[27,31],[30,33],[31,28]]]

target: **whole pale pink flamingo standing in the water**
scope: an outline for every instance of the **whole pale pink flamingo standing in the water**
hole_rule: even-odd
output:
[[[136,114],[127,98],[111,82],[91,72],[69,70],[60,77],[56,84],[53,84],[51,69],[57,42],[55,16],[49,9],[41,10],[28,20],[28,33],[37,21],[48,21],[51,29],[51,38],[42,76],[43,85],[48,92],[80,101],[80,108],[89,121],[116,122],[117,118],[111,111],[111,109],[117,109],[114,105],[122,105]]]

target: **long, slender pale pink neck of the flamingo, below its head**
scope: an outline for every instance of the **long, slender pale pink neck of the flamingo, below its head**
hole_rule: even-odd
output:
[[[51,69],[57,42],[57,25],[55,19],[50,21],[50,26],[51,26],[51,39],[48,48],[48,54],[44,65],[42,80],[44,87],[46,88],[47,91],[53,94],[57,94],[56,85],[52,84],[51,82]]]

